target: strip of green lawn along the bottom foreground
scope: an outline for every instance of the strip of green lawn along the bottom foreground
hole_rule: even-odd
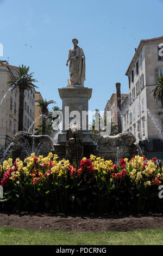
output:
[[[163,245],[163,228],[87,233],[0,227],[0,245]]]

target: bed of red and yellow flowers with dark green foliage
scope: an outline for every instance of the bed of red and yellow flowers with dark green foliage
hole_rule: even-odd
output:
[[[0,165],[1,210],[53,212],[145,212],[163,210],[158,186],[163,168],[156,158],[120,159],[120,165],[91,155],[80,168],[57,155],[12,159]]]

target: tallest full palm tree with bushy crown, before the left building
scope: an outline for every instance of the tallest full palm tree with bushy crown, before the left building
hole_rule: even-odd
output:
[[[19,108],[18,108],[18,130],[23,130],[24,120],[24,91],[32,91],[33,88],[38,88],[33,82],[37,82],[33,78],[33,73],[29,73],[29,67],[19,66],[17,75],[14,75],[10,81],[8,81],[9,88],[14,90],[18,87],[19,89]]]

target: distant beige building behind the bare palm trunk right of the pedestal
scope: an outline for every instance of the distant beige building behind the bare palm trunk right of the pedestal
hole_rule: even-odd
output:
[[[123,100],[128,96],[128,94],[121,94],[121,102],[123,103]],[[117,120],[117,94],[113,93],[110,100],[108,100],[106,106],[105,106],[105,112],[111,111],[111,122],[118,125]]]

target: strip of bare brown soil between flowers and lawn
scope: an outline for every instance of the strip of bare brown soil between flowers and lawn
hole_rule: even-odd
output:
[[[47,213],[0,213],[0,226],[51,231],[129,231],[163,228],[163,215],[149,216],[77,216]]]

